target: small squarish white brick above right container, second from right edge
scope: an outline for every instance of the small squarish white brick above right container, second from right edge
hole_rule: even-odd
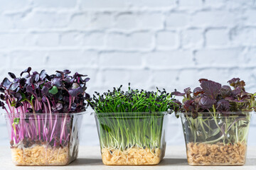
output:
[[[210,47],[228,45],[229,34],[226,29],[210,29],[206,32],[206,45]]]

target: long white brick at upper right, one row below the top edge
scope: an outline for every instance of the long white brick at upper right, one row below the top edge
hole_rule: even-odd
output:
[[[200,11],[191,16],[191,26],[233,26],[239,22],[239,16],[230,11]]]

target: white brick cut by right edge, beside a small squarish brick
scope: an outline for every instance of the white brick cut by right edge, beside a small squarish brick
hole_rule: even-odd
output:
[[[232,31],[231,40],[235,45],[256,45],[256,28],[238,28]]]

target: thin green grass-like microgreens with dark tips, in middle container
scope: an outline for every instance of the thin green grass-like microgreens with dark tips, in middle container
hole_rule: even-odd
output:
[[[164,89],[122,91],[122,86],[103,94],[97,93],[88,101],[95,110],[103,147],[161,147],[164,115],[176,110],[178,104]]]

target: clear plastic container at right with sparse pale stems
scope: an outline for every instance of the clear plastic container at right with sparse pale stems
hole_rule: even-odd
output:
[[[244,165],[252,112],[181,113],[190,165]]]

